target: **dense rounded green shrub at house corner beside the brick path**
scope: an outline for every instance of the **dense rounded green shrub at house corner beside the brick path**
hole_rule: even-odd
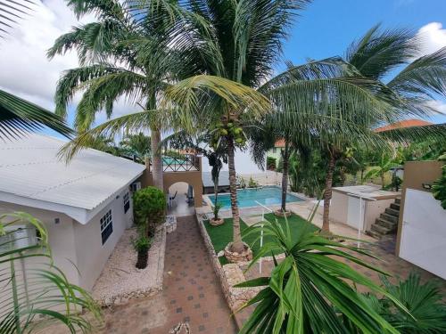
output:
[[[145,235],[153,236],[156,226],[166,218],[166,196],[156,187],[146,187],[133,194],[135,223]]]

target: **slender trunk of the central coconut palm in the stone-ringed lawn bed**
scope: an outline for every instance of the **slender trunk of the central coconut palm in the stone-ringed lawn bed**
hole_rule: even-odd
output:
[[[229,169],[229,191],[231,194],[231,210],[233,219],[233,244],[231,250],[237,253],[242,253],[244,251],[244,243],[242,241],[242,233],[240,231],[234,155],[234,140],[232,138],[227,138],[227,166]]]

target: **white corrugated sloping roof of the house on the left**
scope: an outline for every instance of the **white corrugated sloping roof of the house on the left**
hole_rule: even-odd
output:
[[[16,203],[13,199],[21,198],[37,208],[55,204],[86,210],[80,220],[60,210],[86,224],[83,220],[92,210],[108,204],[145,170],[144,165],[91,149],[80,151],[67,165],[57,157],[64,143],[42,134],[0,141],[0,200]]]

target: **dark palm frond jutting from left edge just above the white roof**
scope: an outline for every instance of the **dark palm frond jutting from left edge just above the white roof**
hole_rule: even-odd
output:
[[[62,118],[34,103],[0,90],[0,138],[12,139],[47,126],[70,137],[73,131]]]

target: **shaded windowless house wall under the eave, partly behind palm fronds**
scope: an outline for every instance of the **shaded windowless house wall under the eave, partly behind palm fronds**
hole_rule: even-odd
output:
[[[15,211],[26,212],[45,224],[48,231],[48,241],[53,250],[54,265],[62,270],[70,282],[79,284],[78,271],[75,266],[78,263],[78,257],[75,250],[73,220],[69,216],[58,212],[0,201],[0,214]],[[59,218],[58,224],[55,224],[56,218]]]

